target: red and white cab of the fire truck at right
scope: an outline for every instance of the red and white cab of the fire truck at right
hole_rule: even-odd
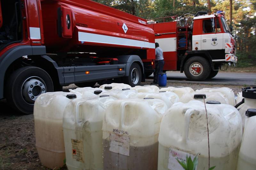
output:
[[[192,51],[207,50],[213,62],[237,62],[235,39],[222,14],[194,17]]]

